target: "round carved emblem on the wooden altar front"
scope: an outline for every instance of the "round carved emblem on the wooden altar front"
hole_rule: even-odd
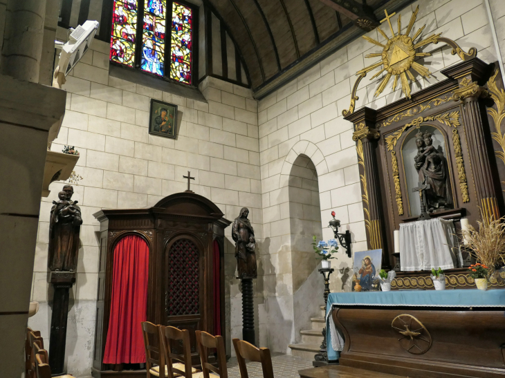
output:
[[[411,355],[423,355],[432,346],[432,337],[426,327],[409,314],[396,316],[391,323],[393,330],[401,334],[398,339],[403,349]]]

